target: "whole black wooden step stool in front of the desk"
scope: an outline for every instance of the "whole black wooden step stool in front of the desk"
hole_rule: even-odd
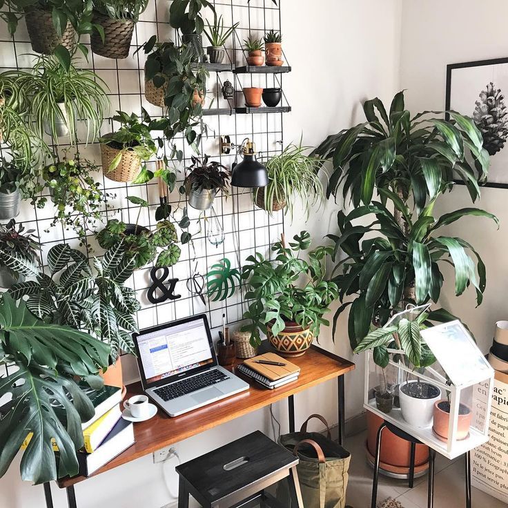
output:
[[[304,508],[296,465],[298,458],[255,431],[224,447],[179,465],[178,508],[189,494],[205,508],[284,508],[264,489],[288,478],[292,506]]]

